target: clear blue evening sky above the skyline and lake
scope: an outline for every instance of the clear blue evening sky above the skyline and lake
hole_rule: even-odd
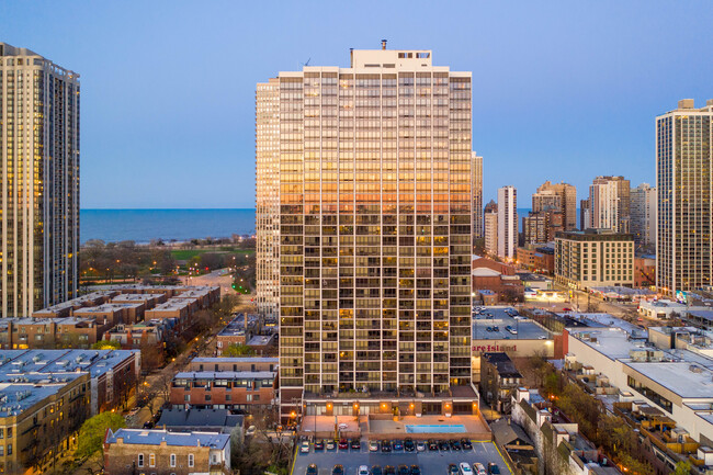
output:
[[[429,48],[473,71],[484,199],[598,174],[654,183],[654,118],[713,98],[701,1],[0,0],[0,41],[81,75],[82,207],[252,207],[254,84]]]

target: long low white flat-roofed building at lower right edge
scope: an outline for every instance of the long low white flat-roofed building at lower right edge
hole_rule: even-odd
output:
[[[676,449],[699,466],[710,465],[700,449],[713,444],[712,348],[695,329],[649,327],[642,339],[621,328],[569,328],[566,360],[569,367],[588,367],[590,380],[606,376],[619,389],[619,403],[655,409],[659,423],[672,423],[674,445],[659,444],[659,451]]]

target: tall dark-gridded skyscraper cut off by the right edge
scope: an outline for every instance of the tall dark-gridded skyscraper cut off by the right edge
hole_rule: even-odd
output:
[[[711,285],[713,100],[656,117],[656,285],[669,296]]]

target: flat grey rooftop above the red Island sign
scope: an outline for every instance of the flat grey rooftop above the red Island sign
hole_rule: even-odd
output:
[[[511,307],[485,307],[480,315],[473,315],[473,340],[541,340],[551,338],[550,332],[534,321],[522,317],[522,319],[509,316],[506,309],[514,310]],[[487,314],[493,314],[489,317]],[[493,327],[498,327],[497,331]],[[517,330],[513,335],[506,330],[506,327]],[[544,337],[544,338],[542,338]]]

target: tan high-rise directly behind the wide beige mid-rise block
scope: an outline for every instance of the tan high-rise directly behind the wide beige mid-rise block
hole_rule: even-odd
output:
[[[629,233],[631,183],[624,177],[597,177],[589,185],[587,228]]]

